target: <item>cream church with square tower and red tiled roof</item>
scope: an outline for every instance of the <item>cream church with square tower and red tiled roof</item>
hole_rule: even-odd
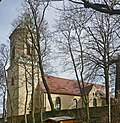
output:
[[[34,81],[35,112],[50,111],[48,95],[38,68],[38,56],[32,49],[29,33],[24,28],[15,29],[10,35],[10,66],[7,70],[7,118],[31,112],[32,81]],[[32,54],[32,55],[31,55]],[[32,59],[32,60],[31,60]],[[46,75],[54,108],[56,110],[84,107],[76,80]],[[89,107],[105,106],[105,87],[85,83]],[[17,123],[17,121],[14,121]]]

